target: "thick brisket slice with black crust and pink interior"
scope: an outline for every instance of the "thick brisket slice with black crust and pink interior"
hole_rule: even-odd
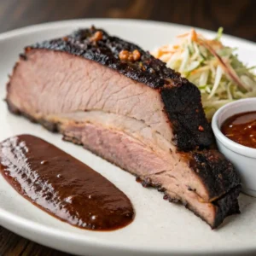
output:
[[[124,49],[140,59],[120,60]],[[240,179],[214,149],[200,91],[137,45],[92,27],[26,47],[7,91],[11,112],[131,172],[212,228],[239,212]]]

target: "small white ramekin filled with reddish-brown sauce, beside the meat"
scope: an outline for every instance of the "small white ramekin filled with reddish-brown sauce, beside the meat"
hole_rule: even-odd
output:
[[[240,173],[242,191],[256,197],[256,98],[231,102],[212,118],[216,143]]]

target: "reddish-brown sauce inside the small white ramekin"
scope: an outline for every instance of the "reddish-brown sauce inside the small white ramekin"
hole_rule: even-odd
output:
[[[221,131],[236,143],[256,148],[256,111],[231,116],[224,121]]]

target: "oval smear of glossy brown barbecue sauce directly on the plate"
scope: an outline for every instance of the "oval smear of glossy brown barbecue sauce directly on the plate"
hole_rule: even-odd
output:
[[[1,173],[27,200],[56,218],[89,230],[130,224],[127,196],[105,177],[54,145],[30,135],[0,144]]]

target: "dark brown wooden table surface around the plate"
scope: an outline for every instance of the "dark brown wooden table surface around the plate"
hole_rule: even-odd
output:
[[[161,20],[199,26],[256,42],[253,0],[0,0],[0,32],[47,21],[83,18]],[[0,255],[67,255],[0,226]]]

